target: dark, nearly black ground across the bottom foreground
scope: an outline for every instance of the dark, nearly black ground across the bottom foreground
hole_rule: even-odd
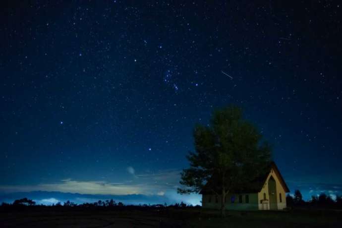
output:
[[[339,211],[217,211],[201,208],[153,210],[0,211],[0,228],[340,228]]]

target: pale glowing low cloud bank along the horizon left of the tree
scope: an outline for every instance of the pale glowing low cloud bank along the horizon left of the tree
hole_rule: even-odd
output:
[[[58,202],[93,203],[113,199],[124,204],[186,204],[199,205],[200,195],[176,193],[180,179],[179,170],[164,170],[138,174],[133,167],[127,172],[132,179],[125,182],[80,181],[63,179],[54,183],[36,185],[1,185],[0,202],[11,203],[15,199],[30,198],[37,204],[52,205]]]

